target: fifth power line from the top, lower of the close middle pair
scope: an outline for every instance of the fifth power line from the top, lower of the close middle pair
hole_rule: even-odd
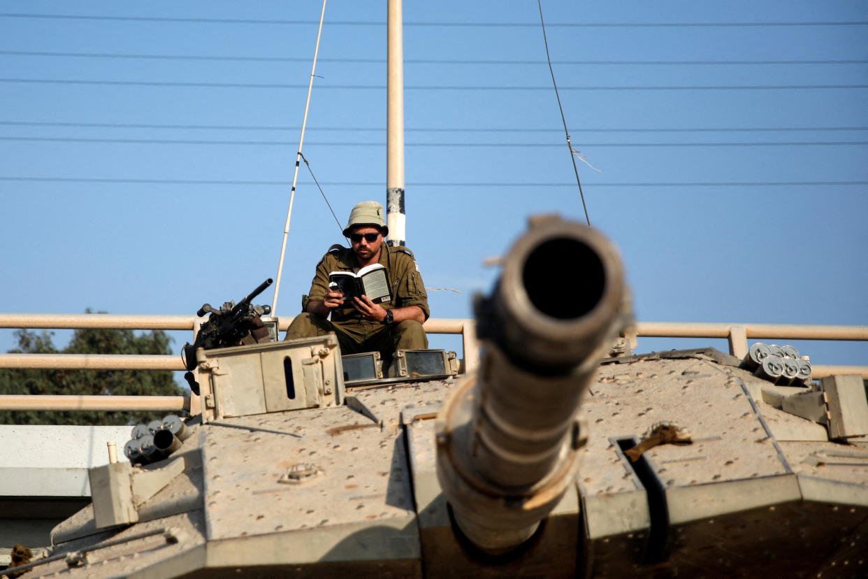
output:
[[[255,147],[289,147],[295,141],[209,141],[195,139],[112,139],[87,137],[0,136],[0,141],[93,142],[139,145],[242,145]],[[318,147],[385,147],[385,142],[308,141]],[[584,142],[589,147],[790,147],[790,146],[868,145],[868,141],[759,141],[759,142]],[[429,148],[541,148],[562,147],[548,142],[408,142],[405,147]]]

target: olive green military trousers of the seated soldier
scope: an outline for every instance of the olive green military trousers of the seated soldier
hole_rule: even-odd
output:
[[[428,347],[428,337],[422,324],[413,319],[404,319],[390,326],[365,323],[368,332],[347,332],[343,327],[315,313],[299,313],[286,330],[286,339],[313,338],[334,332],[338,337],[342,354],[380,352],[383,360],[391,360],[396,350],[424,350]]]

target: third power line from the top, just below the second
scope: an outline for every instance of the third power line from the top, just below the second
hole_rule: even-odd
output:
[[[179,87],[207,89],[306,89],[306,84],[283,84],[279,82],[155,82],[155,81],[106,81],[50,78],[0,78],[0,82],[23,82],[31,84],[82,84],[131,87]],[[322,84],[319,90],[385,90],[385,84]],[[791,90],[791,89],[868,89],[868,84],[769,84],[769,85],[712,85],[712,86],[569,86],[561,90]],[[454,86],[416,85],[404,86],[404,90],[551,90],[536,86]]]

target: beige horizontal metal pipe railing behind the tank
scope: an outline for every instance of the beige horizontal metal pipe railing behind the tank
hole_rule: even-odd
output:
[[[286,331],[293,319],[279,318]],[[202,319],[186,315],[124,315],[110,313],[0,313],[0,328],[187,330],[198,332]],[[464,372],[479,362],[476,324],[472,319],[432,318],[424,324],[432,334],[459,334],[464,350]],[[806,326],[797,324],[705,324],[639,322],[627,338],[635,347],[644,338],[725,338],[733,356],[743,358],[748,339],[822,339],[868,341],[868,326]],[[0,368],[77,370],[184,370],[181,356],[125,354],[0,354]],[[834,374],[860,374],[868,378],[868,365],[813,365],[812,378]],[[194,404],[193,408],[197,406]],[[0,396],[0,410],[191,410],[190,397],[171,396]]]

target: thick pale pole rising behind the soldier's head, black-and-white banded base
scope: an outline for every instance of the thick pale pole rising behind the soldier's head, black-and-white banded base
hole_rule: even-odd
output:
[[[386,225],[388,245],[403,246],[404,214],[404,33],[401,0],[389,0],[389,49],[386,114]]]

